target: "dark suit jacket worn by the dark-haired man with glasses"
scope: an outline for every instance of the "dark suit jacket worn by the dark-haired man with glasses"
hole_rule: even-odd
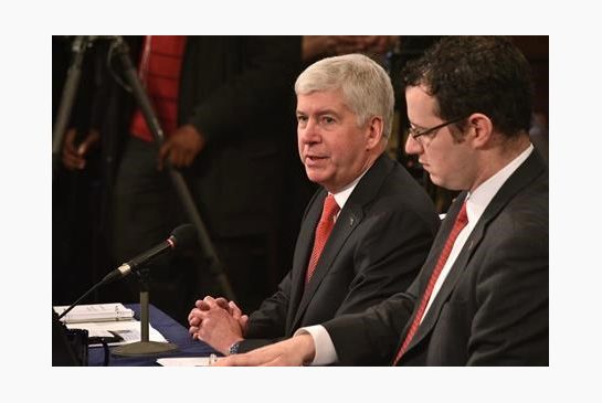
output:
[[[392,362],[465,197],[408,293],[325,324],[341,364]],[[399,364],[547,365],[548,282],[548,170],[532,152],[483,213]]]

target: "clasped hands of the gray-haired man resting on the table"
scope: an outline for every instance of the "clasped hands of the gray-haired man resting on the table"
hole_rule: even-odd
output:
[[[189,332],[194,339],[202,340],[223,354],[228,354],[232,343],[243,340],[249,317],[242,315],[236,304],[224,298],[210,296],[198,300],[190,311]]]

